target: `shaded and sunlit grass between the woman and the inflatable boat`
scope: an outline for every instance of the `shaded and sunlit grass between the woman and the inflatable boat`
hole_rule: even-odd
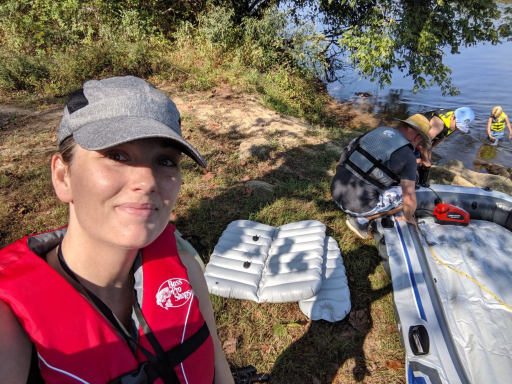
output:
[[[279,140],[279,135],[270,133],[266,138]],[[221,151],[221,147],[229,147],[227,140],[210,142],[209,167],[215,170],[222,165],[223,172],[204,182],[197,169],[184,167],[185,183],[177,203],[180,218],[175,224],[180,231],[202,237],[207,259],[233,220],[249,219],[272,226],[311,219],[325,223],[342,251],[352,308],[368,313],[368,329],[355,330],[348,317],[337,323],[310,322],[296,303],[258,304],[211,296],[221,340],[237,340],[237,350],[228,355],[229,362],[255,365],[259,371],[270,372],[276,383],[331,382],[334,378],[337,381],[332,382],[403,382],[403,370],[386,368],[389,359],[403,358],[391,282],[374,242],[356,239],[345,226],[345,214],[330,198],[331,176],[327,170],[333,169],[339,156],[333,150],[339,151],[338,141],[333,144],[288,149],[275,145],[268,159],[247,169],[247,165],[241,166],[238,159]],[[272,159],[280,159],[281,165],[262,166],[271,164]],[[240,197],[244,184],[241,179],[246,174],[276,185],[274,197],[268,201]],[[208,183],[221,187],[209,189]],[[198,192],[202,198],[197,197]],[[276,334],[276,327],[284,333]],[[367,350],[371,355],[366,354]]]

